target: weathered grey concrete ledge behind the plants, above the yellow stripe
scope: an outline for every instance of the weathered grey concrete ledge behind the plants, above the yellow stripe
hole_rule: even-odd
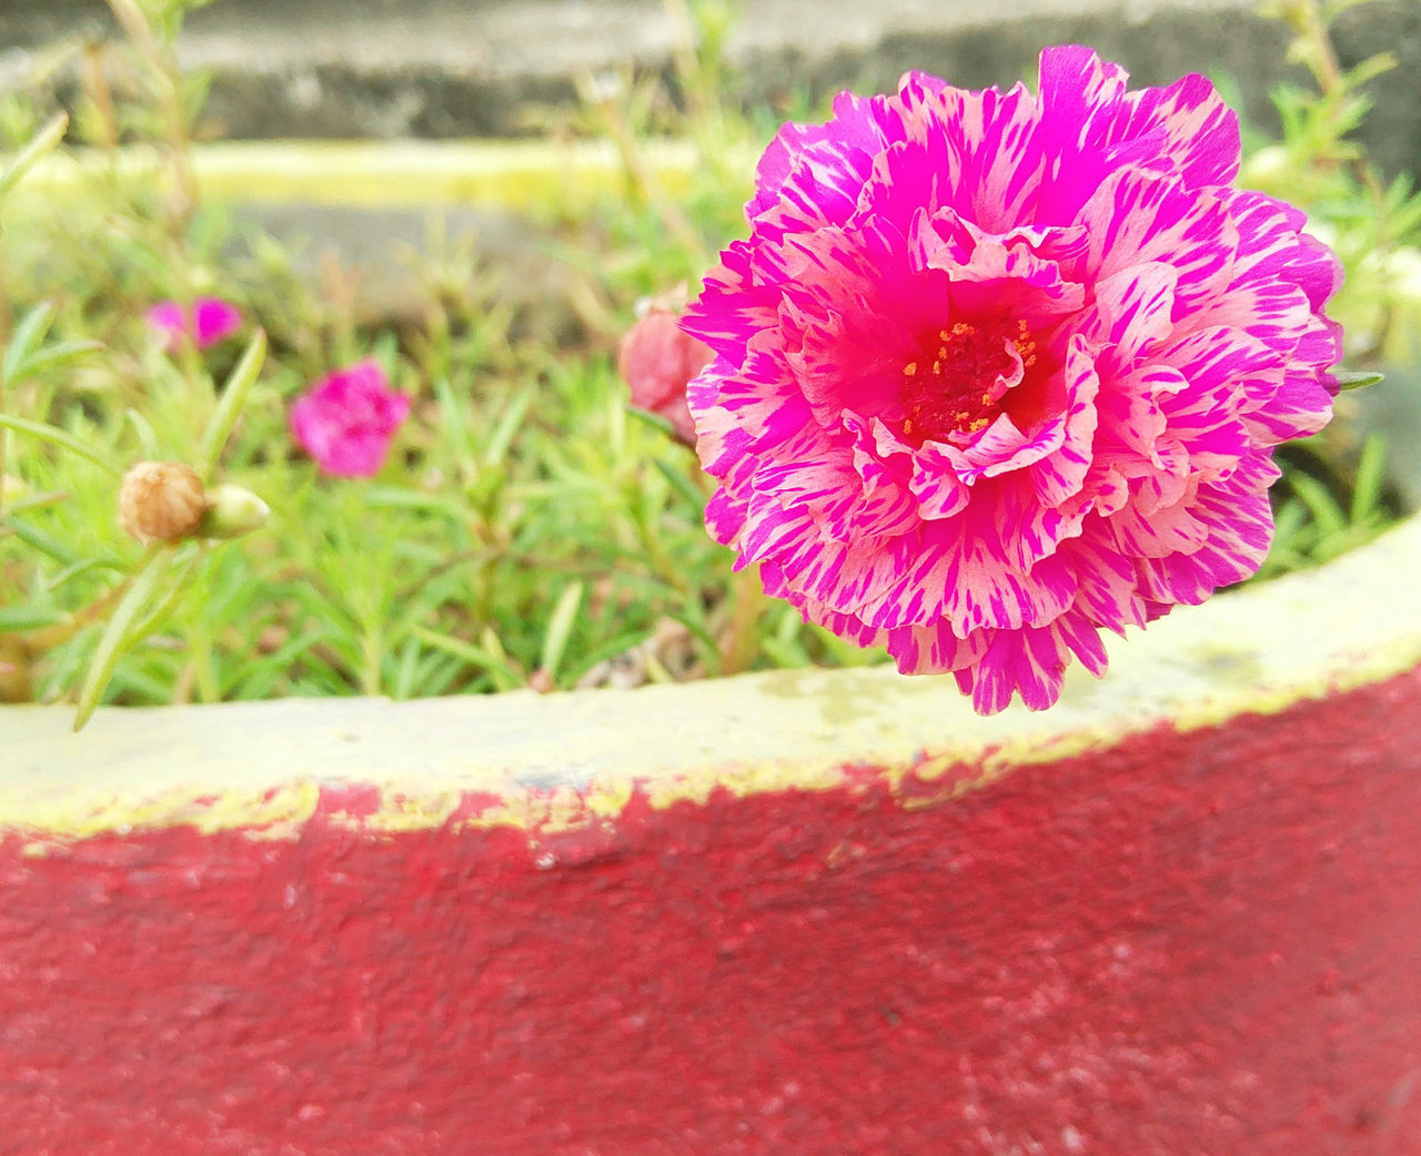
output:
[[[1268,91],[1289,75],[1286,30],[1252,0],[756,0],[729,43],[750,101],[845,85],[884,88],[908,67],[980,87],[1033,72],[1044,44],[1081,41],[1141,82],[1205,71],[1236,87],[1248,116],[1273,121]],[[533,104],[568,105],[574,78],[617,67],[669,71],[676,40],[658,0],[222,0],[192,14],[185,64],[213,72],[210,126],[237,138],[486,136],[527,132]],[[0,82],[26,48],[111,28],[98,0],[0,0]],[[1421,4],[1347,13],[1339,51],[1383,48],[1403,67],[1374,84],[1368,142],[1391,169],[1421,155]]]

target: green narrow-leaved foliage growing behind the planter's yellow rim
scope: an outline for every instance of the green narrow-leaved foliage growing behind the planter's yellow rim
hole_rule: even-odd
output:
[[[115,9],[129,40],[104,51],[132,91],[85,72],[64,143],[37,98],[0,102],[0,143],[18,158],[0,178],[0,702],[77,702],[82,717],[99,700],[415,697],[882,660],[732,572],[702,527],[693,454],[628,409],[614,368],[634,300],[693,284],[739,234],[749,158],[774,119],[725,99],[719,9],[682,10],[699,44],[679,60],[685,111],[657,81],[625,78],[588,87],[558,125],[591,142],[568,155],[615,166],[540,183],[531,153],[495,151],[504,178],[524,175],[520,209],[568,270],[574,324],[558,332],[531,327],[499,271],[455,241],[418,261],[399,320],[364,318],[340,268],[298,274],[298,254],[212,192],[237,187],[243,151],[190,145],[202,82],[172,64],[182,6]],[[1303,21],[1299,43],[1319,34]],[[1289,136],[1255,142],[1252,172],[1303,202],[1361,274],[1408,251],[1421,210],[1346,142],[1356,77],[1314,58],[1319,87],[1286,98]],[[358,180],[368,155],[350,156],[341,195],[381,196]],[[441,199],[482,176],[423,179]],[[290,192],[310,176],[284,179]],[[1395,358],[1421,304],[1385,277],[1354,276],[1346,293],[1358,365]],[[165,354],[145,310],[198,294],[239,304],[244,332]],[[323,477],[291,443],[288,405],[365,356],[415,399],[412,418],[379,476]],[[1384,457],[1346,422],[1289,456],[1265,575],[1393,520]],[[198,464],[259,494],[270,520],[237,541],[139,547],[117,527],[115,479],[142,459]]]

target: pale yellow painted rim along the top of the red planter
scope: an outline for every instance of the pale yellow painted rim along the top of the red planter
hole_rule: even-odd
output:
[[[1013,768],[1378,682],[1421,665],[1421,518],[1310,574],[1228,594],[1113,649],[1100,683],[1067,679],[1060,706],[979,719],[945,679],[891,670],[786,670],[632,692],[382,700],[284,700],[104,710],[80,736],[54,707],[0,711],[0,828],[47,842],[192,824],[283,838],[318,785],[374,785],[377,831],[439,827],[465,792],[495,800],[466,822],[530,834],[654,807],[828,790],[853,767],[891,785],[955,768],[931,805]]]

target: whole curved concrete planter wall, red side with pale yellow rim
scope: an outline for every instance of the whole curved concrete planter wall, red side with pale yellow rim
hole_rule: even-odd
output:
[[[1421,520],[1042,716],[0,713],[0,1150],[1415,1156]]]

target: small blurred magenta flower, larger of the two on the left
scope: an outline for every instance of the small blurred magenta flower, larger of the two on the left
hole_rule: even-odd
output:
[[[317,382],[291,406],[291,435],[324,473],[371,477],[389,453],[389,440],[409,416],[409,398],[389,388],[374,361],[340,369]]]

